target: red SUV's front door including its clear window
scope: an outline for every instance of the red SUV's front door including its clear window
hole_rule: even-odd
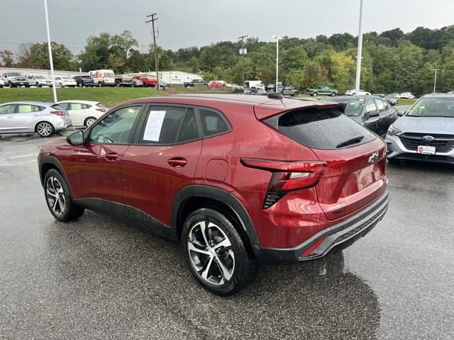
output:
[[[71,147],[65,172],[75,199],[123,203],[120,161],[131,145],[141,111],[142,104],[116,109],[85,132],[84,145]]]

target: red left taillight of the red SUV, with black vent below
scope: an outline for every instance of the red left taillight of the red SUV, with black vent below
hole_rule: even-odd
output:
[[[319,183],[326,169],[323,161],[274,161],[270,159],[240,159],[250,168],[272,173],[263,208],[270,208],[289,191],[311,188]]]

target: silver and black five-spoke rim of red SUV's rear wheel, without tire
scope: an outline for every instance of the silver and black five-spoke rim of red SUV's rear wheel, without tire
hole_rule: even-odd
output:
[[[195,271],[212,285],[223,285],[235,271],[232,244],[220,227],[212,222],[198,222],[187,239],[189,259]]]

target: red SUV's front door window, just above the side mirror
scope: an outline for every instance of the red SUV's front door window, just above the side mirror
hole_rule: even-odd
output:
[[[134,122],[142,106],[128,106],[120,108],[106,115],[90,131],[88,142],[101,144],[128,143]]]

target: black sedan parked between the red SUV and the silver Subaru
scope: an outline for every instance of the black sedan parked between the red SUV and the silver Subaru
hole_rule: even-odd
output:
[[[386,135],[389,125],[397,119],[397,110],[377,96],[340,96],[323,101],[345,103],[345,115],[379,136]]]

